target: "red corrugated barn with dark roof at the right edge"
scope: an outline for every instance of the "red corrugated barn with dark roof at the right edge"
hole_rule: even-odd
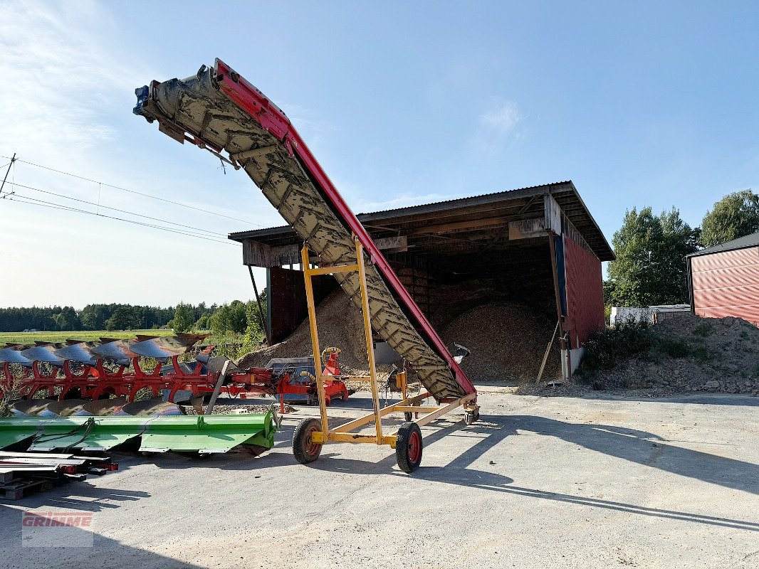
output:
[[[691,311],[759,326],[759,233],[688,255]]]

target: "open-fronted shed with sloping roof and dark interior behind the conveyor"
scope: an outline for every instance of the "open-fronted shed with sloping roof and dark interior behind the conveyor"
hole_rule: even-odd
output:
[[[357,218],[439,331],[479,305],[518,303],[549,322],[539,352],[553,343],[566,377],[584,342],[603,329],[601,262],[614,255],[572,181]],[[284,340],[307,315],[301,239],[288,226],[229,238],[243,245],[245,265],[266,269],[267,339]],[[337,286],[329,275],[315,285],[317,302]],[[497,348],[513,349],[506,341]]]

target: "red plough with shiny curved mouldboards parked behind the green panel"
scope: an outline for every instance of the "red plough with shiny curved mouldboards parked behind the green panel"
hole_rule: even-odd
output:
[[[266,367],[238,369],[226,357],[213,357],[214,345],[196,347],[206,335],[137,336],[134,340],[101,338],[100,342],[68,340],[0,348],[0,398],[5,394],[30,399],[40,392],[59,401],[109,399],[134,401],[137,392],[165,394],[167,401],[190,401],[202,412],[211,394],[250,399],[278,397],[317,401],[313,358],[271,360]],[[187,360],[194,354],[194,360]],[[339,350],[325,351],[323,374],[329,376],[328,397],[347,399],[340,379]],[[155,363],[147,363],[148,361]]]

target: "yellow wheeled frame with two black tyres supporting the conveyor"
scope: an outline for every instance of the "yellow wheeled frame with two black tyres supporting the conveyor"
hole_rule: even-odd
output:
[[[308,305],[308,322],[313,344],[313,363],[316,369],[317,396],[319,399],[320,420],[304,419],[295,429],[293,435],[293,452],[302,464],[317,460],[322,445],[327,442],[352,442],[374,443],[376,445],[389,445],[395,448],[398,458],[398,466],[407,473],[411,473],[419,467],[422,456],[422,437],[420,427],[436,420],[438,417],[449,413],[456,407],[464,407],[467,413],[467,423],[475,420],[478,415],[477,394],[472,393],[456,399],[445,399],[439,405],[422,405],[424,399],[431,397],[428,391],[408,398],[406,393],[405,369],[398,373],[402,401],[379,406],[379,387],[377,385],[376,364],[374,360],[374,344],[372,338],[371,314],[369,297],[367,294],[367,279],[364,270],[364,249],[361,242],[354,237],[356,246],[356,259],[354,265],[326,266],[316,269],[310,268],[308,247],[304,245],[301,250],[301,262],[306,285],[306,300]],[[323,363],[319,345],[319,331],[317,328],[316,304],[313,301],[313,285],[311,278],[316,275],[334,275],[336,273],[357,272],[361,282],[361,312],[364,316],[364,334],[367,343],[367,357],[369,360],[369,381],[372,391],[373,413],[348,421],[335,429],[329,429],[327,419],[326,397],[324,392],[324,379],[322,376]],[[385,434],[382,419],[390,413],[404,413],[406,422],[400,429],[392,434]],[[419,417],[419,416],[422,417]],[[415,420],[412,420],[417,417]],[[374,423],[373,434],[358,434],[356,429]]]

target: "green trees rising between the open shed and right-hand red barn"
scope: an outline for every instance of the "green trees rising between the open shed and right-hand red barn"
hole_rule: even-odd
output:
[[[603,283],[607,306],[649,307],[687,304],[685,256],[759,231],[759,196],[751,190],[730,193],[691,228],[676,208],[655,215],[650,207],[625,212],[612,245]]]

